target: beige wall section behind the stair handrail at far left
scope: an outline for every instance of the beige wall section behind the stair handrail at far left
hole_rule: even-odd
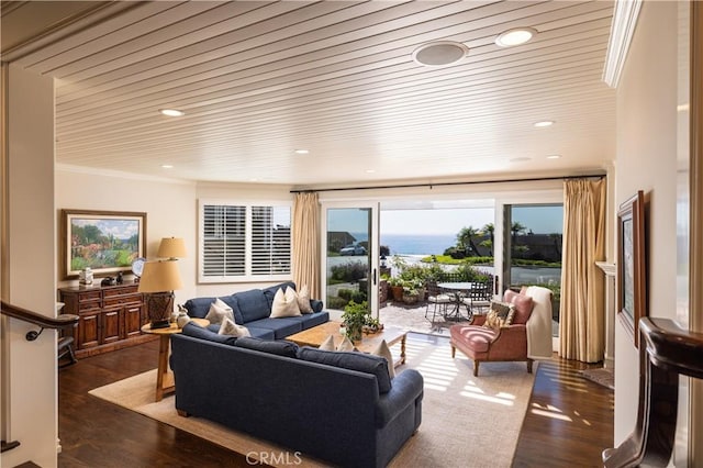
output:
[[[8,108],[8,207],[5,252],[10,303],[55,316],[54,82],[11,65]],[[9,286],[9,287],[8,287]],[[2,330],[3,439],[21,445],[0,456],[1,466],[32,460],[56,466],[56,332],[34,342],[37,330],[9,319]],[[9,345],[9,346],[8,346]],[[7,379],[7,380],[5,380]],[[9,391],[7,386],[9,386]],[[8,409],[9,408],[9,409]]]

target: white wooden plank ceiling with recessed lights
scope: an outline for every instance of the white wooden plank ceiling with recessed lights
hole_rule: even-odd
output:
[[[576,175],[615,151],[601,80],[612,13],[611,1],[2,1],[2,59],[56,78],[64,165],[295,187]],[[538,34],[495,45],[516,26]],[[431,41],[470,52],[417,65]]]

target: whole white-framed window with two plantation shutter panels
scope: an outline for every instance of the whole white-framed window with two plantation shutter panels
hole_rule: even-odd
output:
[[[200,282],[289,279],[290,204],[200,202]]]

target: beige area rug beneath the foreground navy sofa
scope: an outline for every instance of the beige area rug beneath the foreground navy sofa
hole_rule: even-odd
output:
[[[489,363],[473,377],[468,358],[457,353],[451,359],[447,338],[412,333],[406,357],[403,367],[417,369],[425,381],[422,424],[390,467],[510,467],[534,383],[534,374],[527,374],[525,363]],[[90,394],[239,454],[281,453],[281,447],[216,423],[179,416],[174,395],[155,403],[155,382],[156,369],[97,388]],[[303,457],[299,466],[326,465]]]

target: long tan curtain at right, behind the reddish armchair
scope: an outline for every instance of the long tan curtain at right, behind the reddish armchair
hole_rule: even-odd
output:
[[[567,180],[563,187],[563,250],[559,356],[584,363],[603,360],[605,179]]]

